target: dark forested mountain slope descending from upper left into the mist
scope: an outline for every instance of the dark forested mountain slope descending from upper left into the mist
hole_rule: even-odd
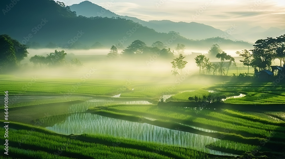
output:
[[[0,1],[1,6],[9,0]],[[25,13],[25,14],[23,14]],[[15,20],[16,19],[16,20]],[[191,48],[209,48],[213,43],[220,43],[222,49],[248,49],[252,44],[235,42],[221,38],[190,40],[172,33],[158,33],[131,20],[122,18],[86,18],[77,16],[70,7],[51,0],[18,1],[5,15],[0,15],[0,34],[8,34],[23,44],[37,42],[42,46],[56,43],[66,48],[75,44],[90,47],[96,42],[110,48],[118,42],[125,47],[135,40],[141,40],[148,46],[161,41],[174,48],[182,43]]]

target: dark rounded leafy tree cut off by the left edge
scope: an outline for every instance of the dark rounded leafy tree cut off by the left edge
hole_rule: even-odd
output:
[[[0,37],[0,66],[5,69],[11,66],[17,66],[17,57],[15,55],[14,44],[5,36]]]

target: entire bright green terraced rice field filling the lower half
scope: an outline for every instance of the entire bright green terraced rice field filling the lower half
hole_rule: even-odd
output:
[[[243,155],[259,147],[260,151],[282,152],[285,147],[284,110],[241,112],[198,108],[194,101],[190,101],[193,106],[177,107],[175,102],[215,94],[227,97],[221,104],[284,104],[284,84],[235,83],[216,76],[197,82],[204,77],[182,80],[157,76],[151,82],[137,77],[125,80],[90,78],[86,81],[39,77],[32,81],[30,77],[1,75],[1,95],[3,97],[4,91],[9,90],[9,120],[15,122],[11,124],[15,130],[10,130],[13,135],[9,138],[9,152],[14,156],[9,157],[234,158],[213,154]],[[240,94],[245,96],[231,98]],[[119,98],[113,98],[114,95]],[[174,104],[170,107],[158,105],[161,97],[167,97],[166,102]],[[3,103],[2,99],[0,101]],[[1,108],[4,108],[3,104]],[[91,115],[84,115],[86,111]],[[94,114],[108,120],[103,117],[99,120],[92,116]],[[124,123],[129,126],[120,129],[118,125]],[[148,126],[143,126],[145,124]],[[138,125],[142,125],[141,128]],[[93,131],[95,128],[100,131]],[[88,134],[78,133],[75,139],[70,136],[82,132],[81,129]],[[189,134],[192,134],[191,138]],[[194,138],[197,135],[204,139]],[[189,143],[185,144],[183,139]],[[19,141],[23,146],[18,146]],[[191,146],[198,141],[205,145]],[[54,155],[60,147],[66,149],[60,155]]]

